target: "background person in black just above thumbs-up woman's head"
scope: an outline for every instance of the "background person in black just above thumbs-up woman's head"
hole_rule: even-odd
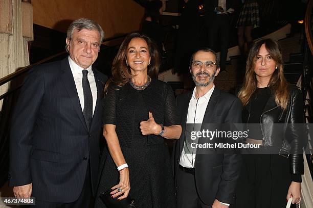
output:
[[[152,0],[147,2],[145,7],[145,16],[142,22],[142,33],[150,37],[158,45],[158,49],[163,54],[164,31],[160,24],[161,15],[163,13],[162,2],[160,0]]]

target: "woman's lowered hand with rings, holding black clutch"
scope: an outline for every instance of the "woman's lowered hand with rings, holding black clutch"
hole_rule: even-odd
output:
[[[124,199],[128,196],[130,191],[129,183],[129,171],[128,169],[123,169],[120,171],[120,183],[111,188],[113,190],[110,194],[111,197],[116,198],[121,194],[124,194],[118,198],[118,200]],[[121,190],[120,192],[118,190]]]

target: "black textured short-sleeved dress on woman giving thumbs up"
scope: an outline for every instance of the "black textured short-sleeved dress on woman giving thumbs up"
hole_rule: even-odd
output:
[[[138,208],[175,207],[175,192],[170,156],[164,138],[143,136],[140,122],[148,120],[165,126],[180,124],[171,87],[151,80],[144,90],[129,83],[118,90],[109,88],[103,100],[103,124],[115,124],[120,146],[129,166],[130,198]],[[100,181],[95,207],[106,207],[99,195],[119,183],[119,172],[105,148],[100,161]],[[109,208],[109,207],[107,207]]]

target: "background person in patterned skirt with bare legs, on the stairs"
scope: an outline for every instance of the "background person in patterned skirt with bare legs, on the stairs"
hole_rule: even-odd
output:
[[[252,46],[251,31],[260,25],[259,8],[256,0],[242,0],[243,6],[237,21],[238,45],[242,58],[244,58],[244,38],[248,44],[248,51]]]

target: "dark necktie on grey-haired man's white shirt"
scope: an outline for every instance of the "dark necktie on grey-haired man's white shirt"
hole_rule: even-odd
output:
[[[90,89],[90,84],[88,82],[88,71],[86,69],[82,70],[83,78],[82,78],[82,86],[83,86],[83,93],[84,93],[84,110],[83,114],[85,117],[85,121],[88,127],[90,128],[91,121],[93,119],[93,95]]]

